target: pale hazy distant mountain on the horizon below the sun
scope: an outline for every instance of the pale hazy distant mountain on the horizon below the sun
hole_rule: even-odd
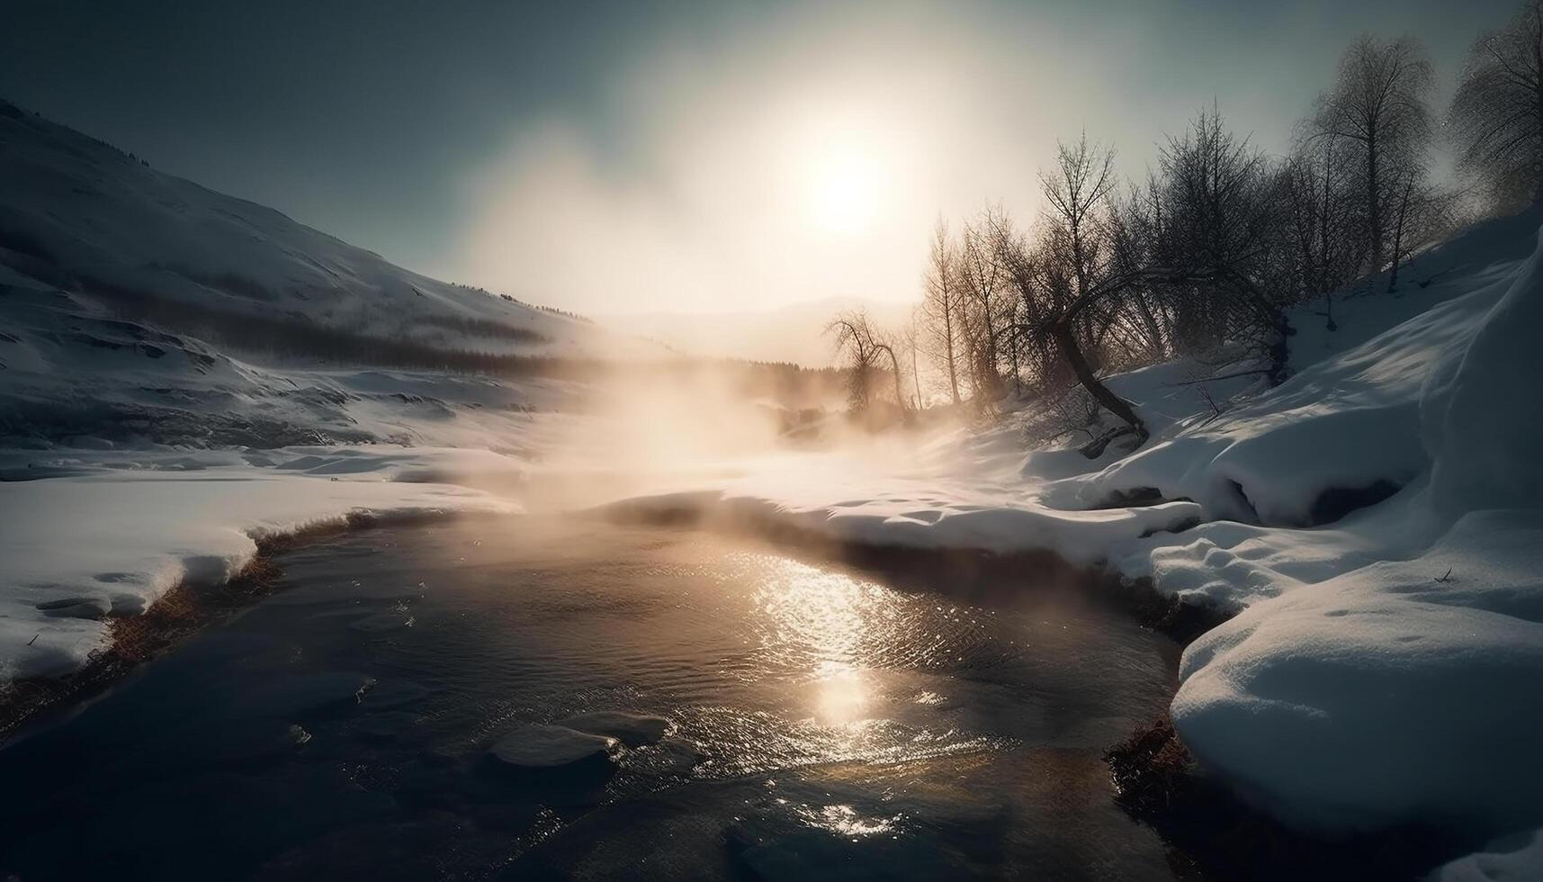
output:
[[[768,310],[645,312],[597,315],[596,321],[619,332],[657,340],[691,355],[829,368],[836,363],[836,352],[824,329],[836,314],[867,309],[875,324],[898,332],[910,317],[912,307],[909,303],[886,300],[830,298]]]

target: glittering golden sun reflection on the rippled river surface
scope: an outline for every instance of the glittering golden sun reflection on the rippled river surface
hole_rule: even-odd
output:
[[[961,647],[983,639],[964,610],[861,576],[775,553],[728,555],[717,579],[753,585],[748,609],[725,627],[745,629],[748,652],[717,670],[770,698],[753,706],[697,706],[685,731],[697,741],[699,777],[733,777],[832,763],[906,763],[994,749],[997,740],[918,714],[947,700]]]

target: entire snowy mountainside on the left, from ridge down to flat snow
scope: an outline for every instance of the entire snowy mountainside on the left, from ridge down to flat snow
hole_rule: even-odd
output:
[[[660,352],[0,102],[0,446],[517,449],[557,374]]]

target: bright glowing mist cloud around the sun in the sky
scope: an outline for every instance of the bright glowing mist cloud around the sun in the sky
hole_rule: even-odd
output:
[[[1054,34],[832,15],[659,51],[617,77],[602,131],[512,131],[466,181],[468,275],[583,312],[910,300],[937,216],[1035,210],[1037,167],[1080,125],[1037,85]]]

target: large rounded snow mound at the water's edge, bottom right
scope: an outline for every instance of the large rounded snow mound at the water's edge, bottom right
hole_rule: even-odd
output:
[[[1322,826],[1511,829],[1543,805],[1543,511],[1248,607],[1183,655],[1173,717],[1251,795]]]

